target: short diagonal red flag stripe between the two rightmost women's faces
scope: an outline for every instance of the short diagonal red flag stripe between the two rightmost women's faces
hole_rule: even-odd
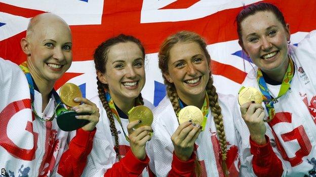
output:
[[[211,61],[212,74],[224,76],[236,83],[243,83],[247,73],[230,65],[225,65],[216,61]]]

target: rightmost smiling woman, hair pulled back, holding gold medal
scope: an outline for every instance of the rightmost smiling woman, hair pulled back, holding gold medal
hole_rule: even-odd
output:
[[[257,66],[242,84],[236,107],[243,120],[235,123],[245,121],[249,129],[240,131],[244,166],[257,176],[315,176],[316,31],[290,45],[289,24],[266,3],[245,8],[236,22],[239,44]],[[262,103],[253,99],[260,94]]]

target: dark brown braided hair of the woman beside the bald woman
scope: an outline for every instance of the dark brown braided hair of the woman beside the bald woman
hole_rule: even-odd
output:
[[[94,52],[94,64],[95,64],[95,68],[96,71],[100,72],[100,73],[105,73],[105,65],[107,62],[107,57],[108,57],[108,52],[111,46],[118,44],[118,43],[125,43],[125,42],[134,42],[136,43],[139,48],[142,51],[143,54],[143,59],[145,60],[145,50],[143,45],[141,44],[140,40],[138,40],[137,38],[135,38],[134,36],[128,36],[125,34],[120,34],[119,36],[116,37],[112,37],[110,39],[107,39],[106,41],[102,42],[95,50]],[[99,78],[97,77],[97,84],[98,84],[98,93],[99,93],[99,98],[102,102],[102,105],[106,111],[107,117],[110,121],[110,130],[112,132],[112,134],[114,135],[114,141],[115,141],[115,146],[114,146],[114,150],[116,153],[116,156],[119,157],[119,159],[121,159],[121,155],[119,153],[119,136],[117,134],[117,130],[114,124],[114,118],[112,115],[112,111],[108,105],[108,102],[106,100],[106,92],[108,91],[108,85],[107,84],[103,84]],[[143,98],[141,96],[141,93],[139,93],[138,95],[138,99],[141,101],[142,104],[144,104],[143,102]]]

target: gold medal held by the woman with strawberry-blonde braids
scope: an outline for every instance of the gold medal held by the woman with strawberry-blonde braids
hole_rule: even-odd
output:
[[[192,120],[192,123],[202,125],[203,113],[196,106],[185,106],[180,110],[178,120],[180,124]]]

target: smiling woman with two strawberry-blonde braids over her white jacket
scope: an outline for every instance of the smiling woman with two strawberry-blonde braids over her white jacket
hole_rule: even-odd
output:
[[[238,176],[232,105],[223,102],[234,97],[216,93],[206,46],[198,34],[181,31],[160,48],[167,96],[153,110],[154,136],[146,147],[157,176]],[[177,114],[186,105],[202,108],[204,131],[191,121],[179,125]]]

